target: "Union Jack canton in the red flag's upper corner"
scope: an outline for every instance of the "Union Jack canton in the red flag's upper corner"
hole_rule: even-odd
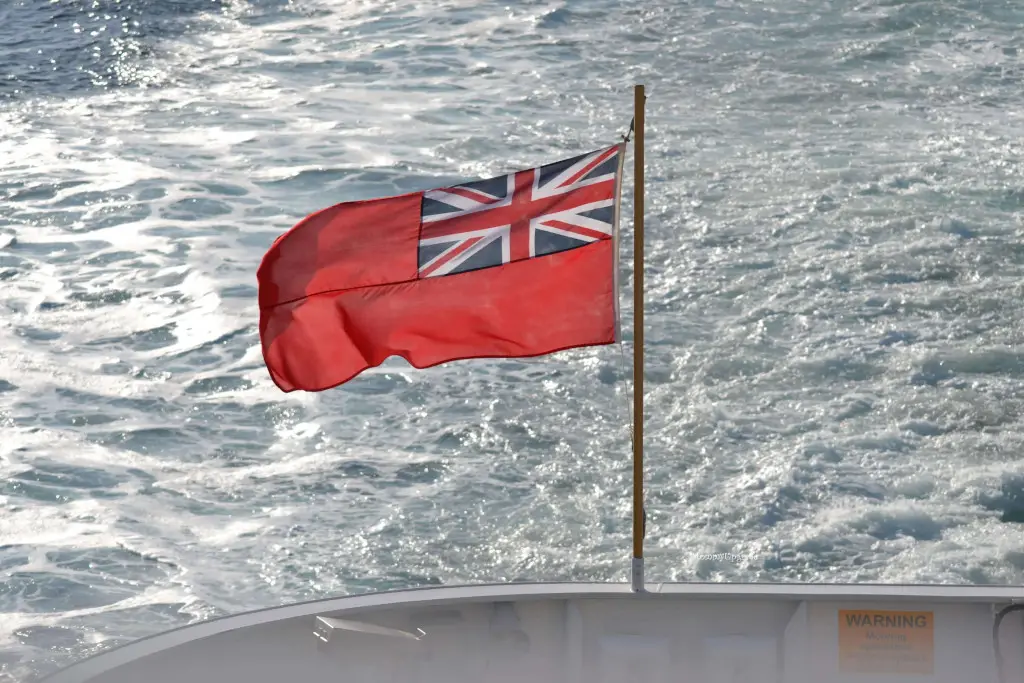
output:
[[[489,268],[610,240],[623,146],[425,191],[420,278]]]

